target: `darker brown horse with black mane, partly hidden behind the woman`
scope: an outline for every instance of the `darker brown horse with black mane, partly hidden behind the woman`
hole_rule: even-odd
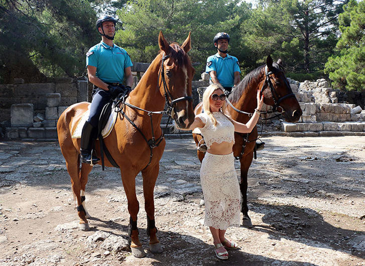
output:
[[[227,105],[230,117],[240,123],[247,123],[257,107],[257,90],[261,89],[265,104],[273,106],[274,111],[282,113],[287,122],[298,121],[302,110],[285,77],[281,59],[273,63],[269,55],[266,61],[266,65],[251,71],[233,88],[227,99],[236,110]],[[200,103],[195,107],[194,113],[201,113],[201,109]],[[247,174],[252,163],[257,137],[257,127],[250,134],[234,133],[233,154],[237,159],[239,158],[240,162],[239,186],[242,195],[241,212],[244,214],[242,224],[246,227],[252,227],[247,206]],[[193,138],[196,145],[202,139],[201,135],[194,133]],[[197,153],[199,160],[202,161],[205,153],[199,150]]]

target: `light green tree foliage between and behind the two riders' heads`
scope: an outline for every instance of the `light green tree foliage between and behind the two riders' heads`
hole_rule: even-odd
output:
[[[168,41],[180,45],[191,31],[190,58],[196,77],[205,70],[206,58],[216,53],[212,40],[217,32],[231,37],[232,55],[244,58],[246,50],[240,44],[239,27],[248,17],[250,8],[239,0],[136,0],[117,12],[124,31],[117,31],[115,41],[126,48],[133,61],[151,62],[159,47],[157,37],[162,30]]]

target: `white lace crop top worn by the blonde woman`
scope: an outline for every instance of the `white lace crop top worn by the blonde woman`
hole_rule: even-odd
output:
[[[214,126],[212,119],[206,114],[201,113],[196,117],[199,118],[205,126],[199,128],[204,137],[207,148],[210,148],[213,142],[222,143],[223,141],[234,143],[234,126],[221,112],[213,112],[217,120]]]

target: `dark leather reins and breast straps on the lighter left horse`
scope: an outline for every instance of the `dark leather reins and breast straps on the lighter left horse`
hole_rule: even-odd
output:
[[[181,101],[193,101],[193,98],[190,97],[190,96],[184,96],[184,97],[180,97],[180,98],[177,98],[177,99],[173,99],[170,91],[169,91],[169,88],[167,86],[167,83],[166,83],[166,79],[165,79],[165,71],[164,71],[164,61],[169,58],[170,55],[165,55],[162,57],[161,59],[161,68],[160,68],[160,73],[158,75],[158,78],[157,78],[157,87],[159,88],[159,83],[160,83],[160,75],[161,75],[161,78],[162,78],[162,84],[163,84],[163,87],[164,87],[164,91],[165,91],[165,99],[166,99],[166,103],[168,105],[168,109],[167,110],[163,110],[163,111],[148,111],[148,110],[145,110],[145,109],[142,109],[140,107],[137,107],[135,105],[132,105],[130,103],[126,103],[125,100],[126,98],[125,97],[122,97],[122,98],[119,98],[117,102],[114,102],[114,106],[117,106],[119,103],[121,103],[121,106],[120,107],[116,107],[116,110],[114,110],[114,112],[120,112],[137,130],[138,132],[141,133],[142,137],[145,139],[145,141],[147,142],[147,145],[149,146],[150,148],[150,161],[148,162],[148,164],[146,165],[145,168],[143,168],[142,170],[146,169],[147,166],[149,166],[151,164],[151,161],[152,161],[152,157],[153,157],[153,149],[156,148],[158,145],[160,145],[161,141],[164,139],[165,137],[165,131],[167,129],[167,126],[170,122],[170,118],[174,116],[175,114],[175,108],[174,108],[174,104],[178,103],[178,102],[181,102]],[[170,98],[170,100],[169,100]],[[127,105],[129,107],[131,107],[132,109],[137,109],[137,110],[140,110],[140,111],[143,111],[143,112],[146,112],[147,115],[150,117],[150,120],[151,120],[151,131],[152,131],[152,139],[148,140],[147,137],[145,136],[145,134],[143,134],[143,132],[141,131],[141,129],[126,115],[126,113],[122,110],[123,109],[123,105]],[[167,120],[167,123],[166,123],[166,126],[165,126],[165,129],[162,130],[162,134],[159,138],[155,139],[155,135],[154,135],[154,130],[153,130],[153,121],[152,121],[152,115],[153,114],[168,114],[169,115],[169,118]]]

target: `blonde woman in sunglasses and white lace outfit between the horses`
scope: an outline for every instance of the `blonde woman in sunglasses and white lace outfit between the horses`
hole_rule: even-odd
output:
[[[260,90],[257,93],[257,102],[257,109],[250,121],[247,124],[238,123],[225,112],[223,87],[220,84],[211,84],[203,94],[204,113],[195,116],[191,126],[183,129],[200,128],[208,148],[200,167],[205,203],[204,225],[209,226],[214,253],[219,259],[228,259],[226,249],[238,247],[224,237],[229,226],[239,226],[240,191],[232,152],[234,131],[250,133],[253,130],[264,104]]]

